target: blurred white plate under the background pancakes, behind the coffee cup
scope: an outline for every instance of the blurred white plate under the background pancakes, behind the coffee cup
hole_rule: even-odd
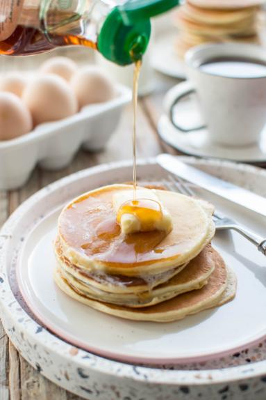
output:
[[[169,77],[185,79],[185,63],[178,58],[174,42],[177,33],[163,34],[156,39],[151,53],[151,66]]]

